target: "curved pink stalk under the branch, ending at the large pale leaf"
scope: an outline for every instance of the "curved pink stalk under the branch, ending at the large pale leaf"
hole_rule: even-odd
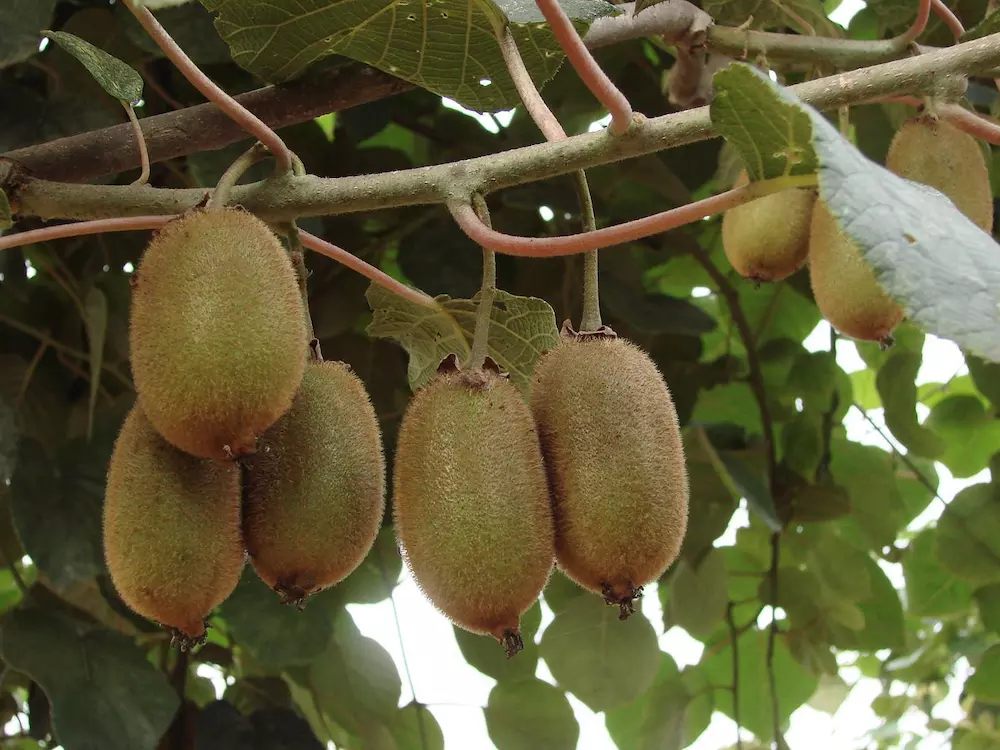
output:
[[[704,219],[706,216],[728,211],[734,206],[760,197],[759,191],[752,188],[753,185],[745,185],[696,203],[672,208],[669,211],[662,211],[642,219],[597,229],[593,232],[561,237],[516,237],[497,232],[483,224],[468,203],[449,203],[448,210],[451,211],[452,218],[455,219],[462,231],[484,247],[506,255],[554,258],[561,255],[575,255],[599,250],[623,242],[633,242],[643,237],[676,229],[698,219]]]

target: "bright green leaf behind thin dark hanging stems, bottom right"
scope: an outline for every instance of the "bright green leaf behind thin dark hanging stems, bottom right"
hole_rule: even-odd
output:
[[[739,663],[740,723],[758,739],[768,742],[771,731],[771,696],[767,689],[767,640],[768,634],[751,629],[737,641]],[[792,657],[784,640],[774,644],[774,677],[778,693],[778,708],[782,724],[792,712],[805,703],[816,690],[818,680],[810,675]],[[733,682],[733,647],[726,644],[702,661],[702,668],[712,685],[731,685]],[[732,718],[733,698],[726,690],[715,694],[716,709]]]

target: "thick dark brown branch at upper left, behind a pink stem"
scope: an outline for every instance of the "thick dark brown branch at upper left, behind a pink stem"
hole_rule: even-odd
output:
[[[413,84],[375,68],[352,65],[316,70],[289,84],[267,86],[235,99],[270,127],[282,128],[412,88]],[[145,117],[139,123],[152,163],[212,151],[249,137],[214,104]],[[127,123],[3,156],[37,177],[59,182],[85,182],[134,169],[140,163],[132,126]]]

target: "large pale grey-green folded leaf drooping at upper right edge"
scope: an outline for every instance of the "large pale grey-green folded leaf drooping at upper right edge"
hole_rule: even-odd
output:
[[[757,83],[751,84],[752,79]],[[753,90],[753,105],[761,111],[771,112],[782,104],[806,113],[812,120],[820,198],[858,245],[879,284],[928,333],[1000,361],[1000,248],[990,235],[944,194],[869,160],[821,113],[750,66],[735,63],[714,80],[716,101],[741,101]],[[713,122],[715,108],[713,103]],[[745,147],[771,153],[768,144],[774,143],[773,136],[755,146],[762,136],[751,137],[745,129],[723,132],[737,145],[750,143],[741,151]],[[768,138],[766,133],[763,137]],[[783,159],[779,155],[779,161]],[[775,176],[766,164],[760,157],[756,166],[765,169],[764,176]]]

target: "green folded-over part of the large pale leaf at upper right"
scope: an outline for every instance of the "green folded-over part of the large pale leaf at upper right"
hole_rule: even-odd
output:
[[[729,65],[712,81],[712,124],[739,152],[751,180],[816,171],[812,124],[801,105],[771,94],[770,82],[746,65]]]

